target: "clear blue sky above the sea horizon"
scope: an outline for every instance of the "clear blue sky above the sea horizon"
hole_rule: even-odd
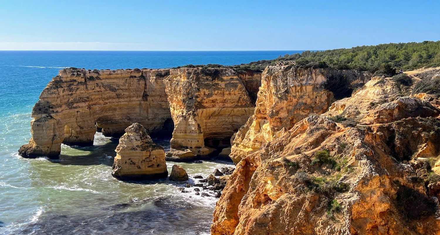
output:
[[[437,41],[438,9],[438,0],[1,0],[0,50],[325,50]]]

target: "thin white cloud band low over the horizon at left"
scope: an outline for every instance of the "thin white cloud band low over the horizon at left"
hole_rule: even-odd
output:
[[[101,42],[0,42],[0,51],[142,51],[152,50],[143,43]]]

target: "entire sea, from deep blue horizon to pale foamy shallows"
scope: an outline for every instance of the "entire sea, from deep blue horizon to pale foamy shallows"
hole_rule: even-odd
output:
[[[184,184],[168,180],[117,181],[110,174],[117,140],[97,133],[93,147],[62,145],[56,161],[18,156],[31,137],[32,107],[60,69],[235,65],[297,52],[0,51],[0,234],[209,234],[217,199],[181,193]],[[169,148],[167,139],[155,142]],[[194,174],[231,166],[215,159],[179,164],[190,183]]]

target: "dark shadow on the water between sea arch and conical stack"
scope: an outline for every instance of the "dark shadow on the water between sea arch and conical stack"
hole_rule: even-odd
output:
[[[104,145],[94,145],[89,147],[70,146],[62,148],[61,155],[57,159],[49,159],[52,163],[61,165],[107,165],[113,166],[116,156],[114,152],[118,140],[108,142]]]

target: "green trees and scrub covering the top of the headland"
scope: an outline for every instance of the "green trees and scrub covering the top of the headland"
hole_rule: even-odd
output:
[[[421,43],[387,43],[376,46],[358,46],[349,49],[326,51],[303,51],[301,54],[286,54],[273,60],[261,60],[249,64],[224,66],[185,65],[181,67],[195,68],[231,68],[238,72],[260,72],[268,65],[278,61],[296,60],[302,68],[336,68],[356,69],[359,71],[382,72],[392,69],[413,70],[422,67],[440,66],[440,41],[423,41]]]

